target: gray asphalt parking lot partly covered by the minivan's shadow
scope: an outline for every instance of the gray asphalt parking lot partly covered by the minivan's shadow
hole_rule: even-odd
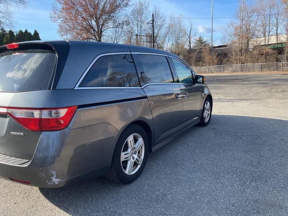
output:
[[[0,180],[0,215],[287,215],[288,74],[206,76],[210,124],[149,155],[130,185]]]

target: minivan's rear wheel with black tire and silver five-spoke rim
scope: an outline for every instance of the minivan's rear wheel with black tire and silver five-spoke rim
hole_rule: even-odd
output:
[[[120,184],[130,184],[142,173],[149,152],[148,137],[138,124],[129,125],[120,135],[106,177]]]

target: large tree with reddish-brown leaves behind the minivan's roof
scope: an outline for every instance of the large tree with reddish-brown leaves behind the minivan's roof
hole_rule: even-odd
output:
[[[102,35],[116,28],[117,15],[130,0],[55,0],[50,19],[58,23],[61,36],[75,40],[102,41]]]

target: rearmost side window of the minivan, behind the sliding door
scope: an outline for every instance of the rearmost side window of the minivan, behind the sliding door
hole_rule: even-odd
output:
[[[79,87],[139,87],[131,54],[105,55],[97,59]]]

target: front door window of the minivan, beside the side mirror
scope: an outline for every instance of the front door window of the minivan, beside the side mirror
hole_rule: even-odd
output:
[[[184,64],[182,61],[178,59],[174,59],[174,58],[171,58],[171,59],[174,63],[174,66],[175,66],[175,69],[179,78],[179,82],[192,83],[193,75],[192,75],[190,68],[188,68],[186,64]]]

